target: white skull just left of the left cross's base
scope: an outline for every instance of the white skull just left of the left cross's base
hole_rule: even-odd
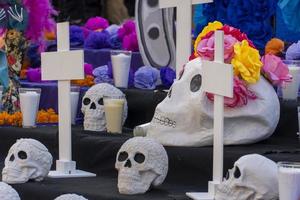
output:
[[[34,139],[19,139],[5,158],[2,181],[9,184],[42,181],[51,165],[52,155],[42,143]]]

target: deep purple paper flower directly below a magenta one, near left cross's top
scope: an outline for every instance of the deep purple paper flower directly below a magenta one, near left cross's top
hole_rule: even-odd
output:
[[[84,43],[86,49],[103,49],[109,47],[109,33],[107,31],[92,32]]]

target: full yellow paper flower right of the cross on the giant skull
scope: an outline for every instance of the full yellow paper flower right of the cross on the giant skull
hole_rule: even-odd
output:
[[[234,74],[240,76],[247,83],[256,83],[260,78],[263,66],[258,50],[249,46],[246,40],[234,45],[234,57],[231,61]]]

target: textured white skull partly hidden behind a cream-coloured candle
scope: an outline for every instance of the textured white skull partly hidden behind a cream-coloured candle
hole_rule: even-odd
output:
[[[91,87],[82,99],[81,111],[84,114],[84,130],[104,131],[106,120],[104,114],[103,97],[122,97],[124,94],[118,88],[100,83]],[[127,118],[127,101],[125,100],[123,112],[123,124]]]

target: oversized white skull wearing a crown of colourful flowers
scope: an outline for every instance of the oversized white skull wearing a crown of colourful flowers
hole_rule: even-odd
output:
[[[147,136],[169,146],[206,146],[213,143],[213,103],[201,88],[200,58],[186,64],[184,74],[157,106]],[[249,86],[257,95],[243,107],[225,108],[224,143],[248,144],[269,137],[279,121],[279,101],[261,77]]]

